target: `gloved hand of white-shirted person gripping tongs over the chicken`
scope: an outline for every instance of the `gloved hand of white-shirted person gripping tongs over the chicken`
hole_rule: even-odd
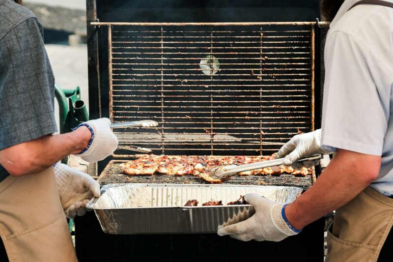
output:
[[[310,168],[319,164],[319,159],[296,162],[297,160],[315,154],[331,154],[329,150],[321,147],[321,129],[306,134],[296,135],[283,145],[277,152],[276,158],[284,159],[284,165],[293,169],[301,170],[303,167]]]

